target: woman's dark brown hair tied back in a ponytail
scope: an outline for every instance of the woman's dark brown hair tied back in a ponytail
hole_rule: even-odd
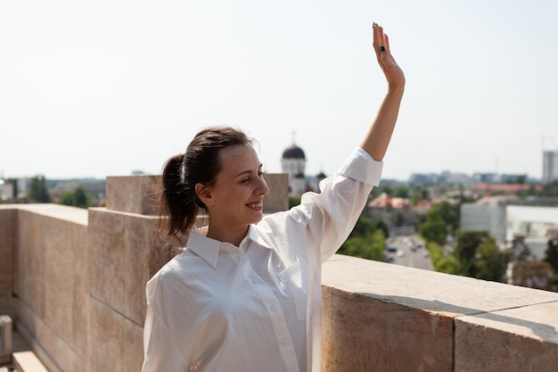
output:
[[[160,217],[169,236],[179,238],[193,227],[200,209],[205,205],[198,198],[195,186],[214,186],[221,171],[219,152],[232,145],[252,145],[241,130],[211,127],[193,137],[185,153],[166,162],[160,183]]]

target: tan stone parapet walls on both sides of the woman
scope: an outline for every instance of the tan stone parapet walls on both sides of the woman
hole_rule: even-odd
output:
[[[179,251],[155,180],[107,178],[106,208],[0,205],[0,315],[50,372],[140,370],[144,285]],[[324,372],[558,370],[558,293],[336,255],[323,294]]]

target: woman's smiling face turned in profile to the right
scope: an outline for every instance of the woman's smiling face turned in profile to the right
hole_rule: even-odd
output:
[[[209,211],[209,224],[242,229],[263,216],[264,195],[269,192],[262,164],[251,145],[233,145],[219,152],[222,165],[210,198],[202,201]]]

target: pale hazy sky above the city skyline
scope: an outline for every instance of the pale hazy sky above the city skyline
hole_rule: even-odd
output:
[[[231,124],[265,171],[295,142],[332,174],[406,72],[384,178],[527,173],[558,150],[554,0],[0,2],[0,177],[158,174]]]

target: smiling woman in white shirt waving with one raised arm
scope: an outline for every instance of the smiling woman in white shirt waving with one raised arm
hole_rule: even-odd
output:
[[[144,372],[320,371],[321,265],[380,181],[405,87],[375,23],[373,48],[388,80],[373,125],[321,192],[290,211],[263,216],[262,166],[234,128],[202,130],[168,161],[168,234],[189,237],[146,285]],[[200,209],[209,225],[191,231]]]

